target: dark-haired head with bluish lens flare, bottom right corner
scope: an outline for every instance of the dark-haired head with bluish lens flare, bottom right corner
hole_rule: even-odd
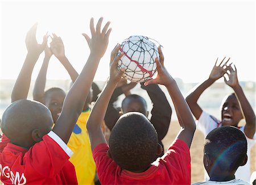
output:
[[[213,129],[205,138],[204,166],[212,176],[232,176],[247,162],[245,134],[233,126]],[[221,172],[221,173],[220,173]]]

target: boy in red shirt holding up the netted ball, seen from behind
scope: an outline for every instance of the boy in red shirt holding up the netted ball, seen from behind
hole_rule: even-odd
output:
[[[191,167],[189,147],[196,126],[191,111],[175,80],[163,66],[163,53],[159,47],[160,61],[156,58],[158,76],[145,85],[165,85],[177,112],[181,131],[162,158],[154,162],[162,152],[158,135],[147,117],[139,112],[122,115],[109,138],[109,146],[101,131],[110,97],[121,78],[117,63],[124,53],[114,57],[120,45],[111,54],[110,78],[90,113],[87,129],[96,162],[98,178],[102,184],[190,184]],[[181,116],[182,115],[182,116]]]

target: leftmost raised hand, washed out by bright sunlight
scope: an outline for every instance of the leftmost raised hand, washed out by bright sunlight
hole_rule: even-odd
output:
[[[37,29],[38,29],[38,23],[35,23],[27,32],[25,42],[26,42],[28,54],[32,54],[36,57],[39,57],[39,55],[44,51],[44,48],[46,48],[48,36],[47,34],[44,35],[43,43],[38,44],[38,41],[36,40]]]

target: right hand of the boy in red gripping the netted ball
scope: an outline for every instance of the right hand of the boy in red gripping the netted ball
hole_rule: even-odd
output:
[[[164,56],[163,56],[161,46],[158,47],[158,52],[159,52],[160,60],[158,57],[155,58],[158,75],[156,76],[155,79],[149,79],[148,81],[146,81],[144,83],[145,86],[150,85],[152,83],[168,86],[170,83],[170,79],[173,80],[171,75],[167,72],[167,69],[164,67]]]

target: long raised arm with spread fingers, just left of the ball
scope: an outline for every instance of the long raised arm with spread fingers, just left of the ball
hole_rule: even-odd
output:
[[[101,31],[102,19],[98,20],[96,29],[94,28],[93,18],[90,20],[92,38],[85,33],[82,34],[89,45],[90,55],[79,77],[68,91],[60,117],[52,129],[65,143],[68,142],[76,121],[80,116],[98,68],[98,63],[108,47],[111,32],[111,28],[108,29],[110,22],[106,23]]]

